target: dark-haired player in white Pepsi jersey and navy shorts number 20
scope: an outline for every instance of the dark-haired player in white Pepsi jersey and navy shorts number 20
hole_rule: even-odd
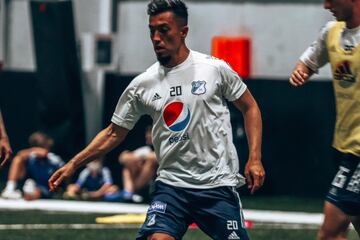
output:
[[[244,116],[249,143],[245,176],[252,193],[265,177],[257,103],[225,62],[187,48],[188,12],[181,0],[153,0],[148,14],[158,62],[130,83],[112,123],[54,173],[49,186],[55,190],[80,165],[121,143],[139,117],[148,114],[159,167],[137,239],[181,239],[193,222],[212,239],[248,239],[235,191],[245,179],[239,174],[226,99]]]

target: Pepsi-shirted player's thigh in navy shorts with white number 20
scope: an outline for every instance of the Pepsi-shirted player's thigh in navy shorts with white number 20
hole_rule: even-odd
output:
[[[212,239],[248,240],[241,201],[232,187],[218,187],[195,192],[192,216]]]

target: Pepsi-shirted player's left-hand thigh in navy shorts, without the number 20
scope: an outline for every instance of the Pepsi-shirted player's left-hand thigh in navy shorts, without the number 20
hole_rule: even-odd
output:
[[[137,240],[182,239],[192,218],[183,190],[157,181]]]

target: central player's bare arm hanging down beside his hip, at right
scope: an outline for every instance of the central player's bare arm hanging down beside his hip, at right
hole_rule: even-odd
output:
[[[245,166],[245,176],[251,193],[259,189],[265,180],[265,170],[261,162],[262,120],[259,107],[247,89],[233,102],[242,112],[249,144],[249,159]]]

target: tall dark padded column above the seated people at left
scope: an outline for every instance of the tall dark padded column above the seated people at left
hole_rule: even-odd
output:
[[[80,64],[71,1],[31,1],[39,118],[70,157],[84,145]]]

